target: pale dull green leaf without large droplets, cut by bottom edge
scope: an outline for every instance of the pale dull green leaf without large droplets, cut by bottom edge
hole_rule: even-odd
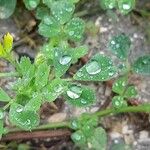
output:
[[[93,136],[89,137],[88,143],[91,144],[94,150],[105,150],[107,146],[106,131],[101,127],[96,128]]]

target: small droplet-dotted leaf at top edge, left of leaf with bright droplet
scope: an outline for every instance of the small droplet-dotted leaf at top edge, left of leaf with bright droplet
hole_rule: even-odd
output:
[[[102,9],[113,9],[117,6],[116,0],[99,0]]]

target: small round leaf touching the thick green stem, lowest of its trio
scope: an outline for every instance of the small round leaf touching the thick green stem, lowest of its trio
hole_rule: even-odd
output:
[[[112,99],[112,106],[116,109],[126,107],[127,102],[124,100],[123,96],[114,96]]]

